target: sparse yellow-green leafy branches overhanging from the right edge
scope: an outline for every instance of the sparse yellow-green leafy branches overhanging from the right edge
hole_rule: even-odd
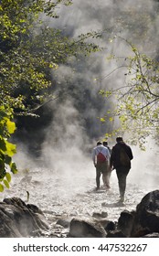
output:
[[[140,53],[129,41],[125,42],[132,49],[132,56],[124,58],[126,81],[118,88],[100,91],[114,102],[101,121],[118,120],[118,126],[106,136],[127,133],[132,144],[144,149],[148,136],[159,136],[159,63]]]

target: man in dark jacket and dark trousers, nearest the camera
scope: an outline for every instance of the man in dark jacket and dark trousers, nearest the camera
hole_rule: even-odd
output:
[[[117,144],[115,144],[111,150],[110,165],[113,169],[116,169],[121,197],[120,202],[123,202],[126,189],[126,177],[131,169],[133,155],[131,147],[123,142],[122,137],[117,137],[116,142]]]

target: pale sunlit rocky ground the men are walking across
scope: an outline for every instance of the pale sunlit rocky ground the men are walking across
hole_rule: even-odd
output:
[[[106,217],[117,221],[122,210],[132,210],[148,192],[158,189],[157,175],[130,173],[127,180],[125,202],[118,204],[119,192],[115,171],[111,174],[111,189],[101,186],[95,191],[95,170],[90,165],[70,172],[44,167],[23,170],[14,176],[5,197],[20,197],[35,204],[46,215],[50,229],[41,236],[66,237],[68,223],[73,217]],[[101,183],[102,184],[102,183]],[[29,197],[27,197],[29,195]]]

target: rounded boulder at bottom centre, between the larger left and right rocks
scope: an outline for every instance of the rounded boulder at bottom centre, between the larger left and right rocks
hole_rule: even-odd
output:
[[[70,221],[69,236],[73,238],[105,238],[106,231],[96,219],[73,218]]]

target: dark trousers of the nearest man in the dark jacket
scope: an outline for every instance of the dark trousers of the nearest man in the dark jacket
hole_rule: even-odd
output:
[[[120,196],[124,197],[126,189],[126,177],[130,171],[130,167],[121,166],[116,168],[116,175],[118,177],[118,185]]]

